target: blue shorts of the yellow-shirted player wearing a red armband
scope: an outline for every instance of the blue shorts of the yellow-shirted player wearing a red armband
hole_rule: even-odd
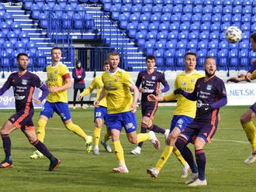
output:
[[[40,115],[52,118],[54,112],[56,112],[57,115],[60,115],[62,122],[71,119],[71,112],[69,111],[68,103],[64,102],[50,103],[49,101],[46,101]]]

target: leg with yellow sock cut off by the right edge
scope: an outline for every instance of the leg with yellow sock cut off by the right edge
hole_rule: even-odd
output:
[[[252,120],[255,118],[255,106],[256,103],[251,105],[251,107],[247,109],[247,111],[245,111],[240,117],[240,123],[252,147],[252,153],[250,153],[248,158],[244,160],[244,163],[254,163],[256,160],[256,131],[254,123],[252,122]]]

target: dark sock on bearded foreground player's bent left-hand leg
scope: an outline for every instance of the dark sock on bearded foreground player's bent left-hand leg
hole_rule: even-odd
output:
[[[185,159],[185,161],[189,164],[192,173],[198,173],[198,168],[193,159],[193,154],[187,147],[187,144],[188,142],[186,142],[184,139],[180,137],[178,137],[177,141],[175,142],[175,146],[178,148],[180,153],[182,153],[182,156]]]

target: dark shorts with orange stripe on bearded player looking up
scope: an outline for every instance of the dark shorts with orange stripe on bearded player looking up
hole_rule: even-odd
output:
[[[196,137],[200,137],[205,142],[211,142],[211,138],[215,134],[217,123],[211,125],[210,123],[192,122],[183,130],[182,135],[185,135],[189,142],[194,142]]]

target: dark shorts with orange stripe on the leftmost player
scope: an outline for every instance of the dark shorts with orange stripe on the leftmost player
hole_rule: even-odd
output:
[[[17,129],[23,128],[26,130],[35,130],[35,127],[33,125],[33,118],[34,111],[18,111],[16,114],[12,115],[8,120],[9,122],[12,122],[14,126],[16,126]]]

